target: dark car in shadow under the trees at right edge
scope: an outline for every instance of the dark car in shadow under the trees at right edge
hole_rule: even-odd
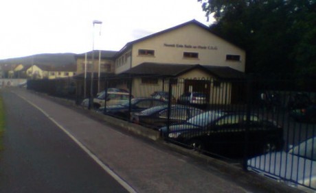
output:
[[[290,116],[296,121],[305,123],[316,123],[316,104],[290,111]]]

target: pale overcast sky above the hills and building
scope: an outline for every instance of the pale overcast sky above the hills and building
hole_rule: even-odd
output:
[[[127,42],[195,19],[197,0],[3,0],[0,60],[39,53],[119,51]],[[95,24],[93,21],[102,21]]]

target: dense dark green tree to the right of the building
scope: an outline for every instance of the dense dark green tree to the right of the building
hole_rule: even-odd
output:
[[[315,0],[198,1],[211,31],[246,50],[247,73],[315,78]]]

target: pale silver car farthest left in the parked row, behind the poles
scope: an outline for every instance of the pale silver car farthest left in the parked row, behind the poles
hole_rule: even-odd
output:
[[[106,100],[106,105],[118,105],[125,103],[126,101],[129,100],[129,93],[127,92],[106,92],[106,97],[105,97],[105,92],[102,92],[98,94],[98,97],[93,99],[93,108],[98,109],[100,107],[104,107],[105,100]],[[133,95],[131,96],[133,99]],[[88,107],[89,106],[89,99],[84,99],[82,101],[82,106],[83,107]]]

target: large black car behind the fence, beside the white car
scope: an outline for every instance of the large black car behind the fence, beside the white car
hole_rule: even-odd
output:
[[[249,142],[245,141],[248,129]],[[169,140],[198,151],[208,151],[227,157],[242,157],[245,145],[248,155],[258,155],[282,149],[283,129],[271,120],[261,120],[255,114],[242,112],[204,112],[185,123],[162,127]]]

